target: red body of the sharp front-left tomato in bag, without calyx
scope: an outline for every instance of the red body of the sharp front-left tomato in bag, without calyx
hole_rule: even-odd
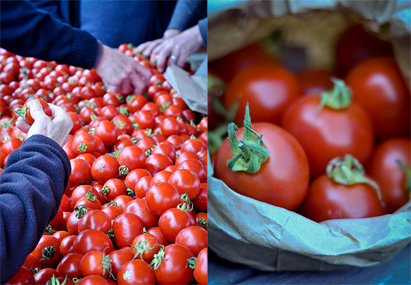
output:
[[[265,148],[269,150],[269,158],[260,171],[230,171],[227,160],[234,155],[227,138],[216,154],[214,176],[241,195],[287,210],[297,209],[306,195],[310,178],[306,153],[282,127],[254,123],[253,129],[262,135]],[[244,128],[240,127],[236,135],[241,140]]]

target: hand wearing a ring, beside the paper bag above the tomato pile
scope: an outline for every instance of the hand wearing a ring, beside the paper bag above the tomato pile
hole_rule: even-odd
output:
[[[184,67],[186,59],[195,53],[204,44],[199,25],[190,27],[184,32],[167,38],[151,51],[150,62],[157,65],[158,72],[162,73],[166,65],[177,64]]]

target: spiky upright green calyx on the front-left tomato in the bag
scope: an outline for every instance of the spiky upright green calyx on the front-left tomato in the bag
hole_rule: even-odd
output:
[[[260,170],[261,164],[269,158],[269,150],[264,147],[262,135],[255,132],[251,127],[248,102],[242,125],[244,126],[244,138],[241,141],[236,136],[235,131],[238,131],[236,124],[230,123],[228,125],[229,144],[232,147],[234,158],[227,161],[227,168],[231,171],[256,173]]]

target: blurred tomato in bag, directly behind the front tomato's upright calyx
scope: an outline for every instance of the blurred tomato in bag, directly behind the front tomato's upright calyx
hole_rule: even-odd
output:
[[[278,124],[287,106],[301,95],[295,75],[281,66],[257,65],[238,73],[227,86],[225,105],[232,108],[239,99],[234,122],[239,125],[249,102],[253,122]]]

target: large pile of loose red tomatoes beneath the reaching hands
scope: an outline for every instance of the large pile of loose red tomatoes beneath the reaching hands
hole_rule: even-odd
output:
[[[105,88],[94,70],[0,50],[1,166],[26,134],[29,99],[66,110],[69,186],[10,280],[27,284],[207,284],[207,117],[188,109],[149,60],[145,94]],[[23,114],[22,114],[23,112]],[[50,281],[51,280],[51,281]]]

